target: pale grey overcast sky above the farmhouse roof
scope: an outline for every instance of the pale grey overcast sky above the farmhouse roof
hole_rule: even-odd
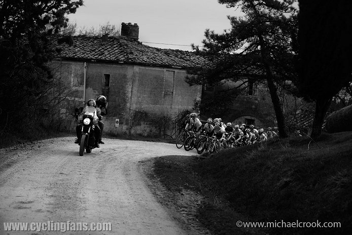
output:
[[[239,14],[217,0],[84,0],[84,6],[68,18],[77,28],[98,29],[107,22],[121,28],[122,22],[137,23],[139,41],[150,42],[143,44],[191,50],[191,43],[202,45],[206,28],[221,33],[230,28],[227,15]]]

